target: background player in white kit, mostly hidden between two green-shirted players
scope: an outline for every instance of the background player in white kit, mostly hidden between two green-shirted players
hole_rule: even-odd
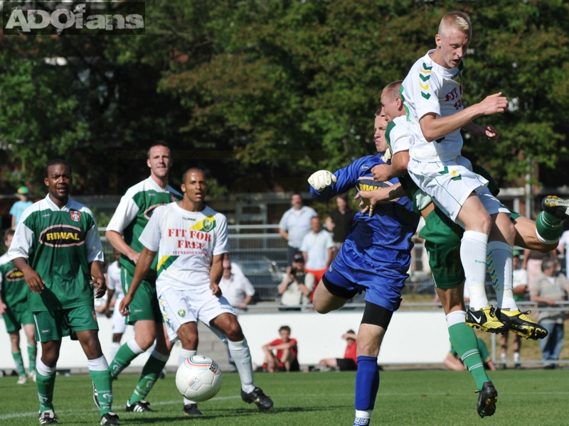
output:
[[[120,252],[115,249],[114,254],[115,261],[107,268],[107,304],[105,305],[105,315],[107,318],[111,318],[112,321],[110,360],[115,358],[117,351],[120,349],[120,339],[122,339],[122,334],[124,334],[127,329],[127,323],[119,311],[120,301],[124,297],[120,283]],[[110,305],[113,295],[115,296],[115,309],[111,312]]]

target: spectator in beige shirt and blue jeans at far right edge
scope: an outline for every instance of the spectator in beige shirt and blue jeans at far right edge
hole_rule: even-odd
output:
[[[555,261],[545,258],[541,263],[541,275],[533,281],[530,289],[530,298],[533,302],[543,302],[548,306],[555,306],[557,302],[565,300],[569,291],[569,283],[565,275],[555,276]],[[539,324],[547,329],[548,335],[539,341],[543,368],[555,368],[555,361],[559,359],[563,349],[563,322],[565,312],[541,311],[538,315]]]

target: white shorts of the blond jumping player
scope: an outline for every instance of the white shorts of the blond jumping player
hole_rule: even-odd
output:
[[[472,192],[476,192],[488,214],[506,213],[504,207],[488,190],[488,181],[472,172],[469,160],[457,155],[453,160],[435,163],[409,160],[408,173],[413,181],[453,222]],[[461,224],[462,225],[462,224]]]

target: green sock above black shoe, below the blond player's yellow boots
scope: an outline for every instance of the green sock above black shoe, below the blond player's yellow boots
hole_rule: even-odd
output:
[[[449,327],[450,344],[464,366],[468,368],[479,391],[482,390],[484,382],[491,381],[484,371],[484,363],[478,350],[478,341],[474,329],[461,322]]]

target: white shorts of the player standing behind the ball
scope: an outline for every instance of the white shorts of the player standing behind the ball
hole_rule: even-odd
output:
[[[178,329],[187,322],[200,320],[206,324],[213,333],[225,341],[225,335],[216,327],[210,325],[211,320],[221,314],[235,315],[235,310],[225,297],[216,297],[211,294],[209,285],[176,290],[172,288],[161,289],[158,293],[160,311],[166,323],[170,342],[178,339]]]

